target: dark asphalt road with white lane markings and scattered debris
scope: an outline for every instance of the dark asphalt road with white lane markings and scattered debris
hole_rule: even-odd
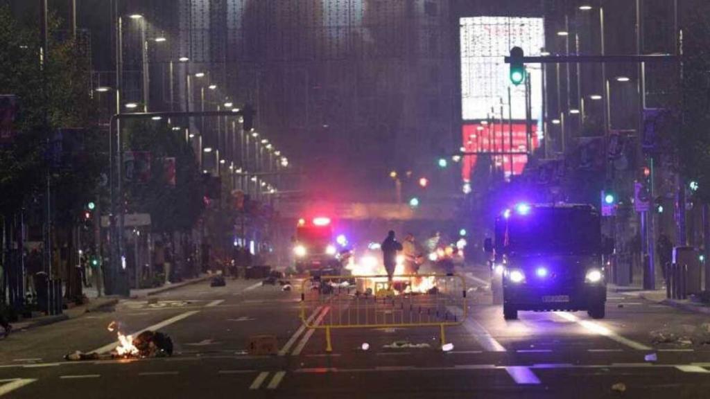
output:
[[[601,321],[520,312],[506,322],[490,294],[476,290],[482,274],[466,275],[469,315],[446,329],[448,352],[438,328],[421,327],[334,330],[328,354],[324,332],[302,328],[297,289],[228,280],[0,340],[0,398],[710,398],[710,349],[657,344],[651,334],[695,334],[707,317],[610,293]],[[310,321],[327,322],[329,308],[315,309]],[[111,321],[125,332],[159,328],[173,338],[174,356],[62,359],[111,349]],[[257,334],[275,335],[279,354],[250,355]]]

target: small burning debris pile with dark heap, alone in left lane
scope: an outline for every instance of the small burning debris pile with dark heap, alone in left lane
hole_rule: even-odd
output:
[[[173,339],[162,332],[146,330],[138,334],[135,338],[119,331],[119,325],[111,322],[107,329],[116,332],[119,344],[108,354],[97,354],[95,352],[84,353],[75,351],[64,356],[68,361],[99,360],[99,359],[144,359],[153,357],[165,357],[173,355]]]

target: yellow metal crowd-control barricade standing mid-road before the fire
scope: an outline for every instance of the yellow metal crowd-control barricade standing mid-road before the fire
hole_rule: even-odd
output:
[[[332,329],[445,327],[464,322],[466,282],[459,275],[323,275],[303,280],[300,318],[306,328],[324,329],[332,351]]]

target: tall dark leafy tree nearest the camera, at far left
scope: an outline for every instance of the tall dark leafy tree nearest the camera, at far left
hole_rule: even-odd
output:
[[[95,108],[89,95],[89,60],[73,40],[57,39],[59,25],[58,18],[50,16],[49,53],[40,62],[35,26],[23,26],[6,6],[0,6],[0,87],[2,94],[16,95],[20,104],[13,126],[15,136],[0,148],[0,214],[6,232],[18,229],[16,223],[10,226],[9,221],[16,220],[14,216],[22,209],[31,208],[33,203],[46,203],[46,198],[41,197],[49,177],[55,231],[65,231],[60,237],[71,237],[80,208],[95,197],[96,182],[105,163],[104,140],[95,129]],[[82,151],[70,157],[71,168],[48,162],[56,133],[67,128],[84,132]],[[77,253],[72,249],[72,240],[65,241],[66,253]],[[18,261],[19,257],[14,259]],[[73,263],[72,258],[67,259],[66,270],[62,270],[69,279],[68,296],[80,293]],[[7,261],[4,264],[6,268],[13,267]],[[14,267],[18,269],[19,264]]]

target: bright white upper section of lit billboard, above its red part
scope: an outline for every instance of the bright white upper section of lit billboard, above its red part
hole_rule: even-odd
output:
[[[525,55],[540,55],[545,47],[543,18],[476,16],[460,18],[461,119],[508,119],[508,87],[514,120],[525,119],[525,84],[510,84],[509,66],[503,57],[510,48]],[[526,65],[532,86],[532,119],[542,112],[542,72],[539,64]]]

